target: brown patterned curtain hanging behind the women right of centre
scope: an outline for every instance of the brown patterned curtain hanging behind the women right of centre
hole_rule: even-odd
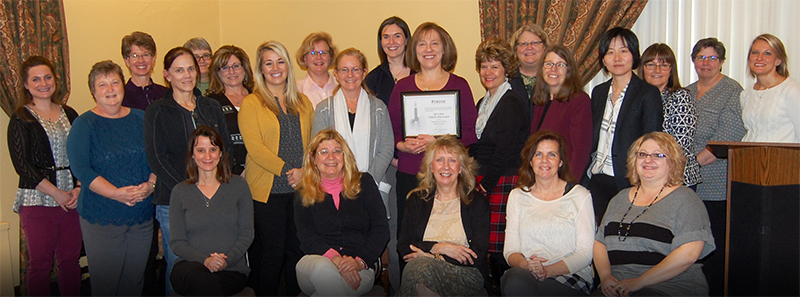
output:
[[[480,0],[481,38],[508,39],[520,26],[539,24],[550,42],[575,54],[583,83],[598,71],[597,47],[603,32],[631,28],[647,0]]]

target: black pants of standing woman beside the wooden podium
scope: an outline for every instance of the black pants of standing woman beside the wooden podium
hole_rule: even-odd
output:
[[[725,216],[728,203],[722,201],[703,201],[708,210],[708,219],[711,221],[711,234],[714,235],[714,244],[717,249],[703,259],[703,274],[708,281],[708,294],[722,296],[725,287]]]

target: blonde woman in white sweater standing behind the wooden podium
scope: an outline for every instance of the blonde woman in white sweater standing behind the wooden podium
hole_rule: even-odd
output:
[[[778,37],[753,40],[747,63],[752,88],[742,91],[742,141],[800,143],[800,84],[789,78],[789,57]]]

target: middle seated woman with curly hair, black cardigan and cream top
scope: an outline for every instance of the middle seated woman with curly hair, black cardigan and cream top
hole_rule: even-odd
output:
[[[453,136],[425,148],[397,240],[407,262],[398,296],[465,296],[486,288],[489,203],[473,191],[476,167]]]

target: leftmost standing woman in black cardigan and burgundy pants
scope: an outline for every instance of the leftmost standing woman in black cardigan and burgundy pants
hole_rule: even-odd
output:
[[[53,64],[41,56],[22,63],[20,88],[8,123],[8,151],[19,174],[14,211],[28,248],[31,296],[50,295],[53,256],[62,296],[80,295],[80,185],[69,170],[67,136],[78,113],[61,102]]]

